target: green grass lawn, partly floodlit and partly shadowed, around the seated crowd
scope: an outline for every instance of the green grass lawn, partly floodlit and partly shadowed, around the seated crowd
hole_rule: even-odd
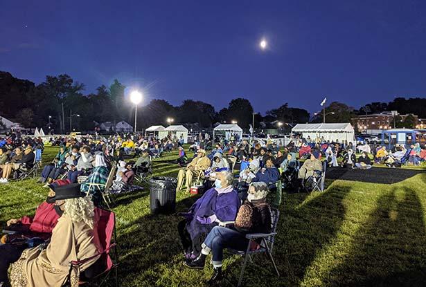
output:
[[[44,160],[53,158],[47,148]],[[176,176],[167,154],[154,162],[154,173]],[[263,255],[245,273],[246,286],[425,286],[426,174],[392,185],[327,181],[325,192],[285,194],[274,247],[281,272],[276,277]],[[33,214],[46,198],[35,180],[0,185],[0,223]],[[195,201],[177,195],[177,210]],[[212,273],[181,264],[176,216],[152,215],[149,190],[116,199],[119,286],[204,286]],[[224,261],[227,281],[238,279],[240,257]]]

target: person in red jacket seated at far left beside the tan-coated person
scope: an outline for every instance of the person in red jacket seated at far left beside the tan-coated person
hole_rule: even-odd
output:
[[[17,232],[19,237],[24,235],[27,238],[50,238],[57,219],[62,216],[62,210],[57,205],[54,205],[55,201],[52,200],[53,196],[55,196],[54,189],[56,187],[57,185],[51,185],[46,201],[37,207],[34,216],[10,219],[6,222],[7,228],[5,230]],[[19,241],[12,239],[12,237],[18,238],[16,234],[12,234],[1,239],[3,244],[0,245],[0,286],[8,284],[8,268],[10,264],[19,259],[24,249],[28,248],[28,243],[35,243],[35,241],[29,241],[28,243]]]

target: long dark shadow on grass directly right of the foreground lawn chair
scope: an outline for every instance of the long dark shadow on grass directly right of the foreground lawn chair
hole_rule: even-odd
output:
[[[342,201],[349,192],[350,187],[337,186],[312,199],[306,198],[309,194],[285,195],[273,252],[281,277],[262,254],[247,266],[243,284],[298,286],[317,253],[335,239],[346,213]],[[236,286],[241,265],[242,259],[227,266],[229,282],[222,286]]]

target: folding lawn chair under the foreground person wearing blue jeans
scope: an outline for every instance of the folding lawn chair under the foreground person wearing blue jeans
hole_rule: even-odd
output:
[[[245,267],[247,266],[247,260],[250,259],[251,261],[251,255],[258,254],[258,253],[267,253],[269,259],[272,261],[272,265],[274,265],[276,275],[278,277],[280,276],[280,273],[278,272],[278,268],[276,268],[276,264],[274,261],[274,257],[272,257],[272,250],[274,248],[274,239],[276,235],[276,225],[278,225],[278,219],[280,216],[280,212],[272,208],[272,221],[271,221],[271,233],[264,234],[264,233],[253,233],[253,234],[246,234],[246,238],[249,239],[249,243],[247,243],[247,249],[245,251],[240,250],[234,250],[229,249],[229,252],[233,254],[238,254],[244,256],[244,261],[242,262],[242,268],[240,272],[240,279],[238,279],[238,287],[241,286],[242,282],[242,276],[244,275]],[[251,250],[251,242],[256,241],[256,239],[261,239],[259,248],[257,250]]]

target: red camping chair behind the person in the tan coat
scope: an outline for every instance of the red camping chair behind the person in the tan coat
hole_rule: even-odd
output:
[[[79,286],[102,286],[109,275],[114,270],[115,286],[118,286],[118,251],[116,248],[116,216],[114,212],[103,210],[101,208],[95,209],[95,220],[96,220],[96,233],[102,247],[102,252],[99,252],[94,257],[100,257],[85,271],[80,272]],[[112,252],[114,251],[114,252]],[[83,263],[93,259],[89,257],[80,259],[78,261],[70,262],[70,274],[69,278],[64,286],[69,286],[69,280],[71,279],[72,268],[80,268]],[[112,257],[114,260],[112,260]],[[100,283],[97,284],[97,282]],[[113,285],[113,284],[111,284]]]

